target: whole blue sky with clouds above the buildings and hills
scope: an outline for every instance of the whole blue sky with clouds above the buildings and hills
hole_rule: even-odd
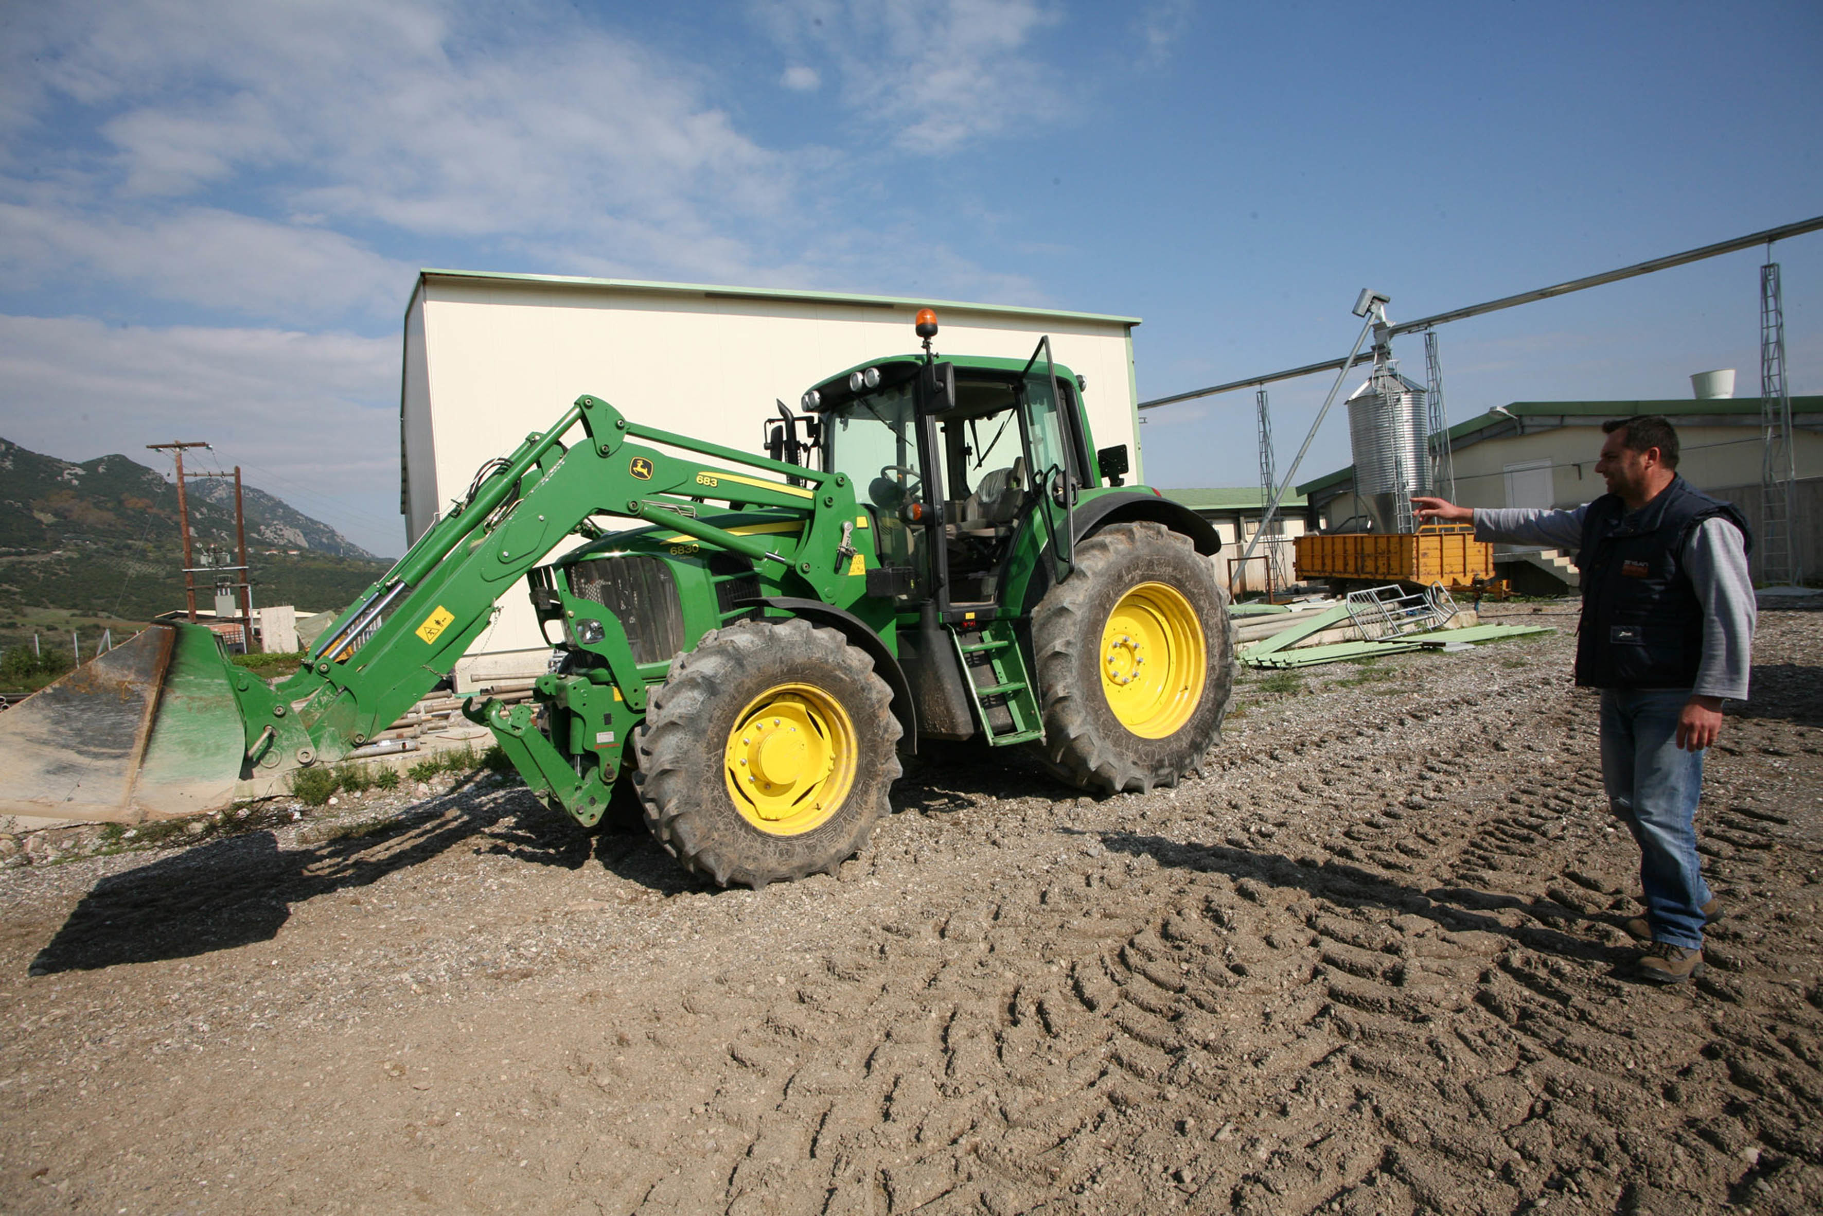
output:
[[[419,266],[1139,315],[1156,397],[1344,354],[1362,286],[1400,321],[1823,213],[1819,117],[1814,2],[5,0],[0,436],[211,439],[396,554]],[[1823,392],[1823,233],[1774,257]],[[1761,261],[1444,326],[1451,417],[1757,392]],[[1272,390],[1282,470],[1325,390]],[[1158,485],[1258,478],[1251,394],[1141,434]],[[1300,478],[1347,459],[1338,412]]]

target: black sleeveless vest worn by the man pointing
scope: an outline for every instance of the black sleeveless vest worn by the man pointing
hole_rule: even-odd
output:
[[[1617,689],[1686,689],[1703,664],[1703,603],[1683,551],[1703,520],[1721,516],[1754,540],[1734,507],[1674,478],[1659,496],[1628,514],[1617,494],[1602,494],[1582,516],[1582,625],[1577,629],[1577,684]]]

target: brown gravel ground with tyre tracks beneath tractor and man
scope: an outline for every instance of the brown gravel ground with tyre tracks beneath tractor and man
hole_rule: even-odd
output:
[[[928,755],[758,893],[492,778],[15,864],[0,1209],[1823,1209],[1823,614],[1710,755],[1681,990],[1544,616],[1249,675],[1147,797]]]

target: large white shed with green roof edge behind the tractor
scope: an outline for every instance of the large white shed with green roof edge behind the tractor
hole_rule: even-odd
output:
[[[461,498],[483,461],[551,425],[582,394],[627,417],[760,450],[775,401],[868,359],[917,348],[912,319],[935,308],[942,354],[1052,354],[1088,381],[1097,447],[1139,463],[1138,317],[773,288],[425,270],[405,310],[401,510],[410,540]],[[521,582],[458,664],[458,689],[545,669],[549,647]]]

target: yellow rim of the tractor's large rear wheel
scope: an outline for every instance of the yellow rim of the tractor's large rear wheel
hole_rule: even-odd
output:
[[[1121,726],[1141,738],[1183,727],[1203,700],[1209,647],[1183,593],[1139,583],[1101,629],[1101,691]]]

